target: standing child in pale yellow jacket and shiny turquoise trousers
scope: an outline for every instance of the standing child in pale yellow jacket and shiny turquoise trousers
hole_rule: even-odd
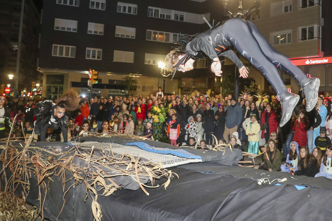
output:
[[[248,135],[248,153],[258,154],[259,150],[259,131],[261,126],[257,122],[256,115],[250,116],[250,122],[247,123],[246,135]]]

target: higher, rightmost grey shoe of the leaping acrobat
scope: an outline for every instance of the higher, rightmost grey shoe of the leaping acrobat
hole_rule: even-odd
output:
[[[319,85],[319,78],[311,78],[309,74],[300,83],[306,100],[305,110],[307,112],[311,111],[317,104]]]

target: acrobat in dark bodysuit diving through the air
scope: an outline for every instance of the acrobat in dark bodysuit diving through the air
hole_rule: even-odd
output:
[[[257,27],[247,20],[230,19],[223,25],[210,28],[193,37],[184,36],[178,44],[180,46],[168,53],[165,59],[166,70],[174,71],[174,74],[176,71],[193,70],[193,64],[197,59],[210,58],[211,71],[216,76],[221,76],[221,63],[218,57],[225,56],[238,67],[240,77],[247,78],[249,72],[246,66],[232,50],[228,50],[233,45],[243,57],[262,72],[275,89],[282,106],[280,127],[290,119],[299,96],[291,93],[290,88],[287,90],[277,67],[292,75],[303,88],[306,111],[311,111],[317,103],[319,79],[311,78],[309,74],[305,75],[290,63],[288,57],[273,48]]]

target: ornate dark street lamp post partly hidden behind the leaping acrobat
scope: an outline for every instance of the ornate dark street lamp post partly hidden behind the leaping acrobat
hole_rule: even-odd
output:
[[[222,7],[223,7],[223,15],[226,16],[227,14],[229,14],[232,18],[242,18],[242,19],[246,19],[248,16],[251,15],[251,11],[256,8],[256,11],[259,11],[259,7],[261,6],[260,0],[255,0],[255,5],[252,6],[248,11],[246,11],[244,14],[242,12],[243,8],[242,8],[242,0],[239,0],[239,7],[238,7],[238,12],[236,15],[234,15],[233,13],[231,13],[230,11],[227,11],[228,8],[228,2],[230,0],[224,0]],[[237,57],[239,57],[239,52],[237,51],[236,53]],[[237,74],[238,69],[235,65],[235,99],[238,100],[239,98],[239,82],[240,82],[240,76]]]

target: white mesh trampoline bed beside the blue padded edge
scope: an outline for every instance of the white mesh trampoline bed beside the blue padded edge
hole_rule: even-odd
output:
[[[154,163],[161,162],[163,165],[162,168],[180,166],[188,163],[202,162],[202,159],[188,159],[184,157],[174,156],[172,154],[151,153],[142,150],[137,146],[126,146],[119,143],[101,143],[96,141],[84,141],[80,143],[71,141],[70,143],[76,145],[79,144],[79,146],[87,146],[87,147],[95,146],[105,150],[110,150],[110,145],[112,145],[112,151],[114,153],[129,154],[131,156],[141,156],[147,160],[151,160]]]

